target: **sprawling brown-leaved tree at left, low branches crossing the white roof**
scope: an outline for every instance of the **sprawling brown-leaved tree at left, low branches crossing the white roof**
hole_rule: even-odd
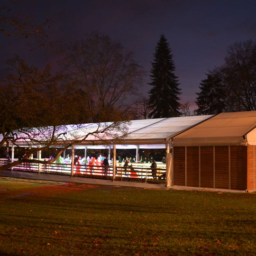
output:
[[[121,112],[90,111],[76,84],[67,82],[63,74],[53,75],[49,65],[39,70],[18,56],[7,64],[7,77],[0,83],[0,146],[22,144],[30,150],[22,159],[0,166],[0,171],[22,162],[44,163],[28,156],[54,145],[62,147],[56,159],[66,148],[85,139],[93,143],[95,137],[107,140],[125,134]],[[114,122],[110,122],[112,117]],[[84,124],[90,121],[97,123]]]

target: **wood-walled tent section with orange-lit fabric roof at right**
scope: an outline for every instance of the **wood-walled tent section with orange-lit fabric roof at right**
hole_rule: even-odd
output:
[[[172,145],[174,185],[256,190],[256,111],[220,113]]]

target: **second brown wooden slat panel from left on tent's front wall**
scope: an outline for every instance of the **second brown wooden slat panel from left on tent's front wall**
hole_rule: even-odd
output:
[[[187,147],[187,186],[199,187],[199,147]]]

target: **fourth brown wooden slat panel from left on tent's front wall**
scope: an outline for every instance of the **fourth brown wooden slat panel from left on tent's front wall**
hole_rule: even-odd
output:
[[[215,188],[229,189],[229,146],[215,146]]]

